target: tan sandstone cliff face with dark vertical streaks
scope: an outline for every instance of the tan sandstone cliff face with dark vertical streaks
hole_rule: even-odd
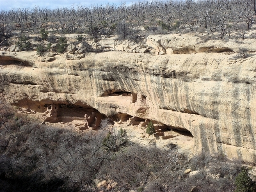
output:
[[[35,52],[15,58],[33,59]],[[18,106],[45,113],[47,104],[97,109],[124,121],[136,116],[170,129],[189,131],[196,152],[230,158],[256,157],[256,57],[205,53],[151,55],[88,54],[81,60],[56,56],[23,66],[0,58],[0,93]],[[8,61],[8,62],[7,62]],[[18,65],[18,64],[19,65]]]

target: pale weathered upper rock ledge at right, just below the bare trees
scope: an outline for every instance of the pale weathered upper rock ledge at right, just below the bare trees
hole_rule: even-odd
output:
[[[256,52],[255,39],[207,39],[207,35],[149,35],[145,43],[135,44],[129,40],[117,40],[116,37],[100,40],[104,51],[124,51],[133,53],[152,52],[156,55],[191,54],[196,52]]]

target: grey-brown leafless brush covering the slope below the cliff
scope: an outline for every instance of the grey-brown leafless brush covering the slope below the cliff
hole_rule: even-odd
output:
[[[113,191],[217,192],[234,191],[250,182],[241,164],[225,156],[202,154],[188,159],[174,144],[165,150],[141,147],[127,140],[124,129],[108,132],[107,127],[79,134],[39,125],[1,100],[0,188],[99,191],[100,180],[115,180]],[[188,168],[197,173],[188,177],[184,173]]]

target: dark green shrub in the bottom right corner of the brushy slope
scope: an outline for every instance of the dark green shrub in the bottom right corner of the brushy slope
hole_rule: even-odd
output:
[[[256,191],[256,184],[248,175],[248,170],[242,170],[236,177],[236,192]]]

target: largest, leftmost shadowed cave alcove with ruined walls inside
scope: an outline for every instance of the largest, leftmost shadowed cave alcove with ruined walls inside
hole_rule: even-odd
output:
[[[102,120],[107,118],[97,109],[86,104],[65,104],[61,102],[38,102],[33,100],[19,100],[14,104],[20,113],[33,114],[40,121],[50,124],[74,125],[80,130],[98,129]]]

